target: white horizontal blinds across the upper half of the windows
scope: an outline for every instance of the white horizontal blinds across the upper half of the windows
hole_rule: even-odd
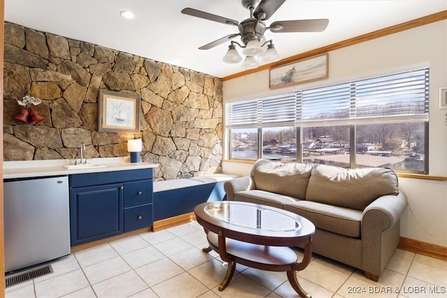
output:
[[[428,121],[428,68],[227,105],[227,126]]]

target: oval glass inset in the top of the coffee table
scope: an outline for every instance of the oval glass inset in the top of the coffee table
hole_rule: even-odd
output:
[[[300,230],[302,224],[298,216],[281,209],[263,207],[244,202],[216,202],[207,204],[206,214],[219,221],[251,228],[275,232],[291,232]]]

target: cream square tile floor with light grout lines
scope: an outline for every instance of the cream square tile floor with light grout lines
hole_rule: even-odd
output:
[[[8,288],[6,297],[298,297],[285,272],[240,265],[219,292],[226,269],[216,253],[201,251],[205,246],[196,222],[146,232],[56,260],[53,274]],[[397,250],[374,283],[356,269],[314,255],[298,280],[314,298],[441,298],[447,297],[447,262]]]

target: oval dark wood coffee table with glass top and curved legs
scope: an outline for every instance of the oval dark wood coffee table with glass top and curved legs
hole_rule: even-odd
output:
[[[295,271],[309,265],[315,226],[306,218],[275,207],[248,202],[205,202],[194,209],[197,222],[207,234],[206,253],[219,253],[228,262],[222,291],[235,273],[236,263],[267,271],[286,271],[292,288],[301,297],[311,297],[302,289]],[[304,257],[291,249],[303,246]]]

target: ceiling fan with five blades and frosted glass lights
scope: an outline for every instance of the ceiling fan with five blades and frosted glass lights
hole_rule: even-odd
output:
[[[242,22],[213,15],[212,13],[205,13],[194,8],[184,8],[182,13],[185,15],[192,15],[193,17],[200,17],[205,20],[211,20],[231,26],[237,26],[239,33],[229,34],[222,38],[212,41],[199,47],[200,50],[209,50],[212,47],[232,40],[240,36],[240,43],[231,41],[228,46],[228,52],[223,57],[223,61],[230,64],[239,63],[242,61],[239,53],[235,49],[235,45],[242,47],[242,53],[247,57],[245,59],[245,66],[247,68],[254,68],[258,66],[258,62],[254,57],[262,56],[263,61],[272,62],[279,59],[279,54],[274,49],[273,40],[265,40],[264,33],[267,30],[273,33],[284,32],[321,32],[328,27],[328,19],[316,20],[288,20],[272,22],[270,26],[265,24],[265,20],[270,19],[272,15],[286,0],[242,0],[242,6],[250,10],[250,17]]]

